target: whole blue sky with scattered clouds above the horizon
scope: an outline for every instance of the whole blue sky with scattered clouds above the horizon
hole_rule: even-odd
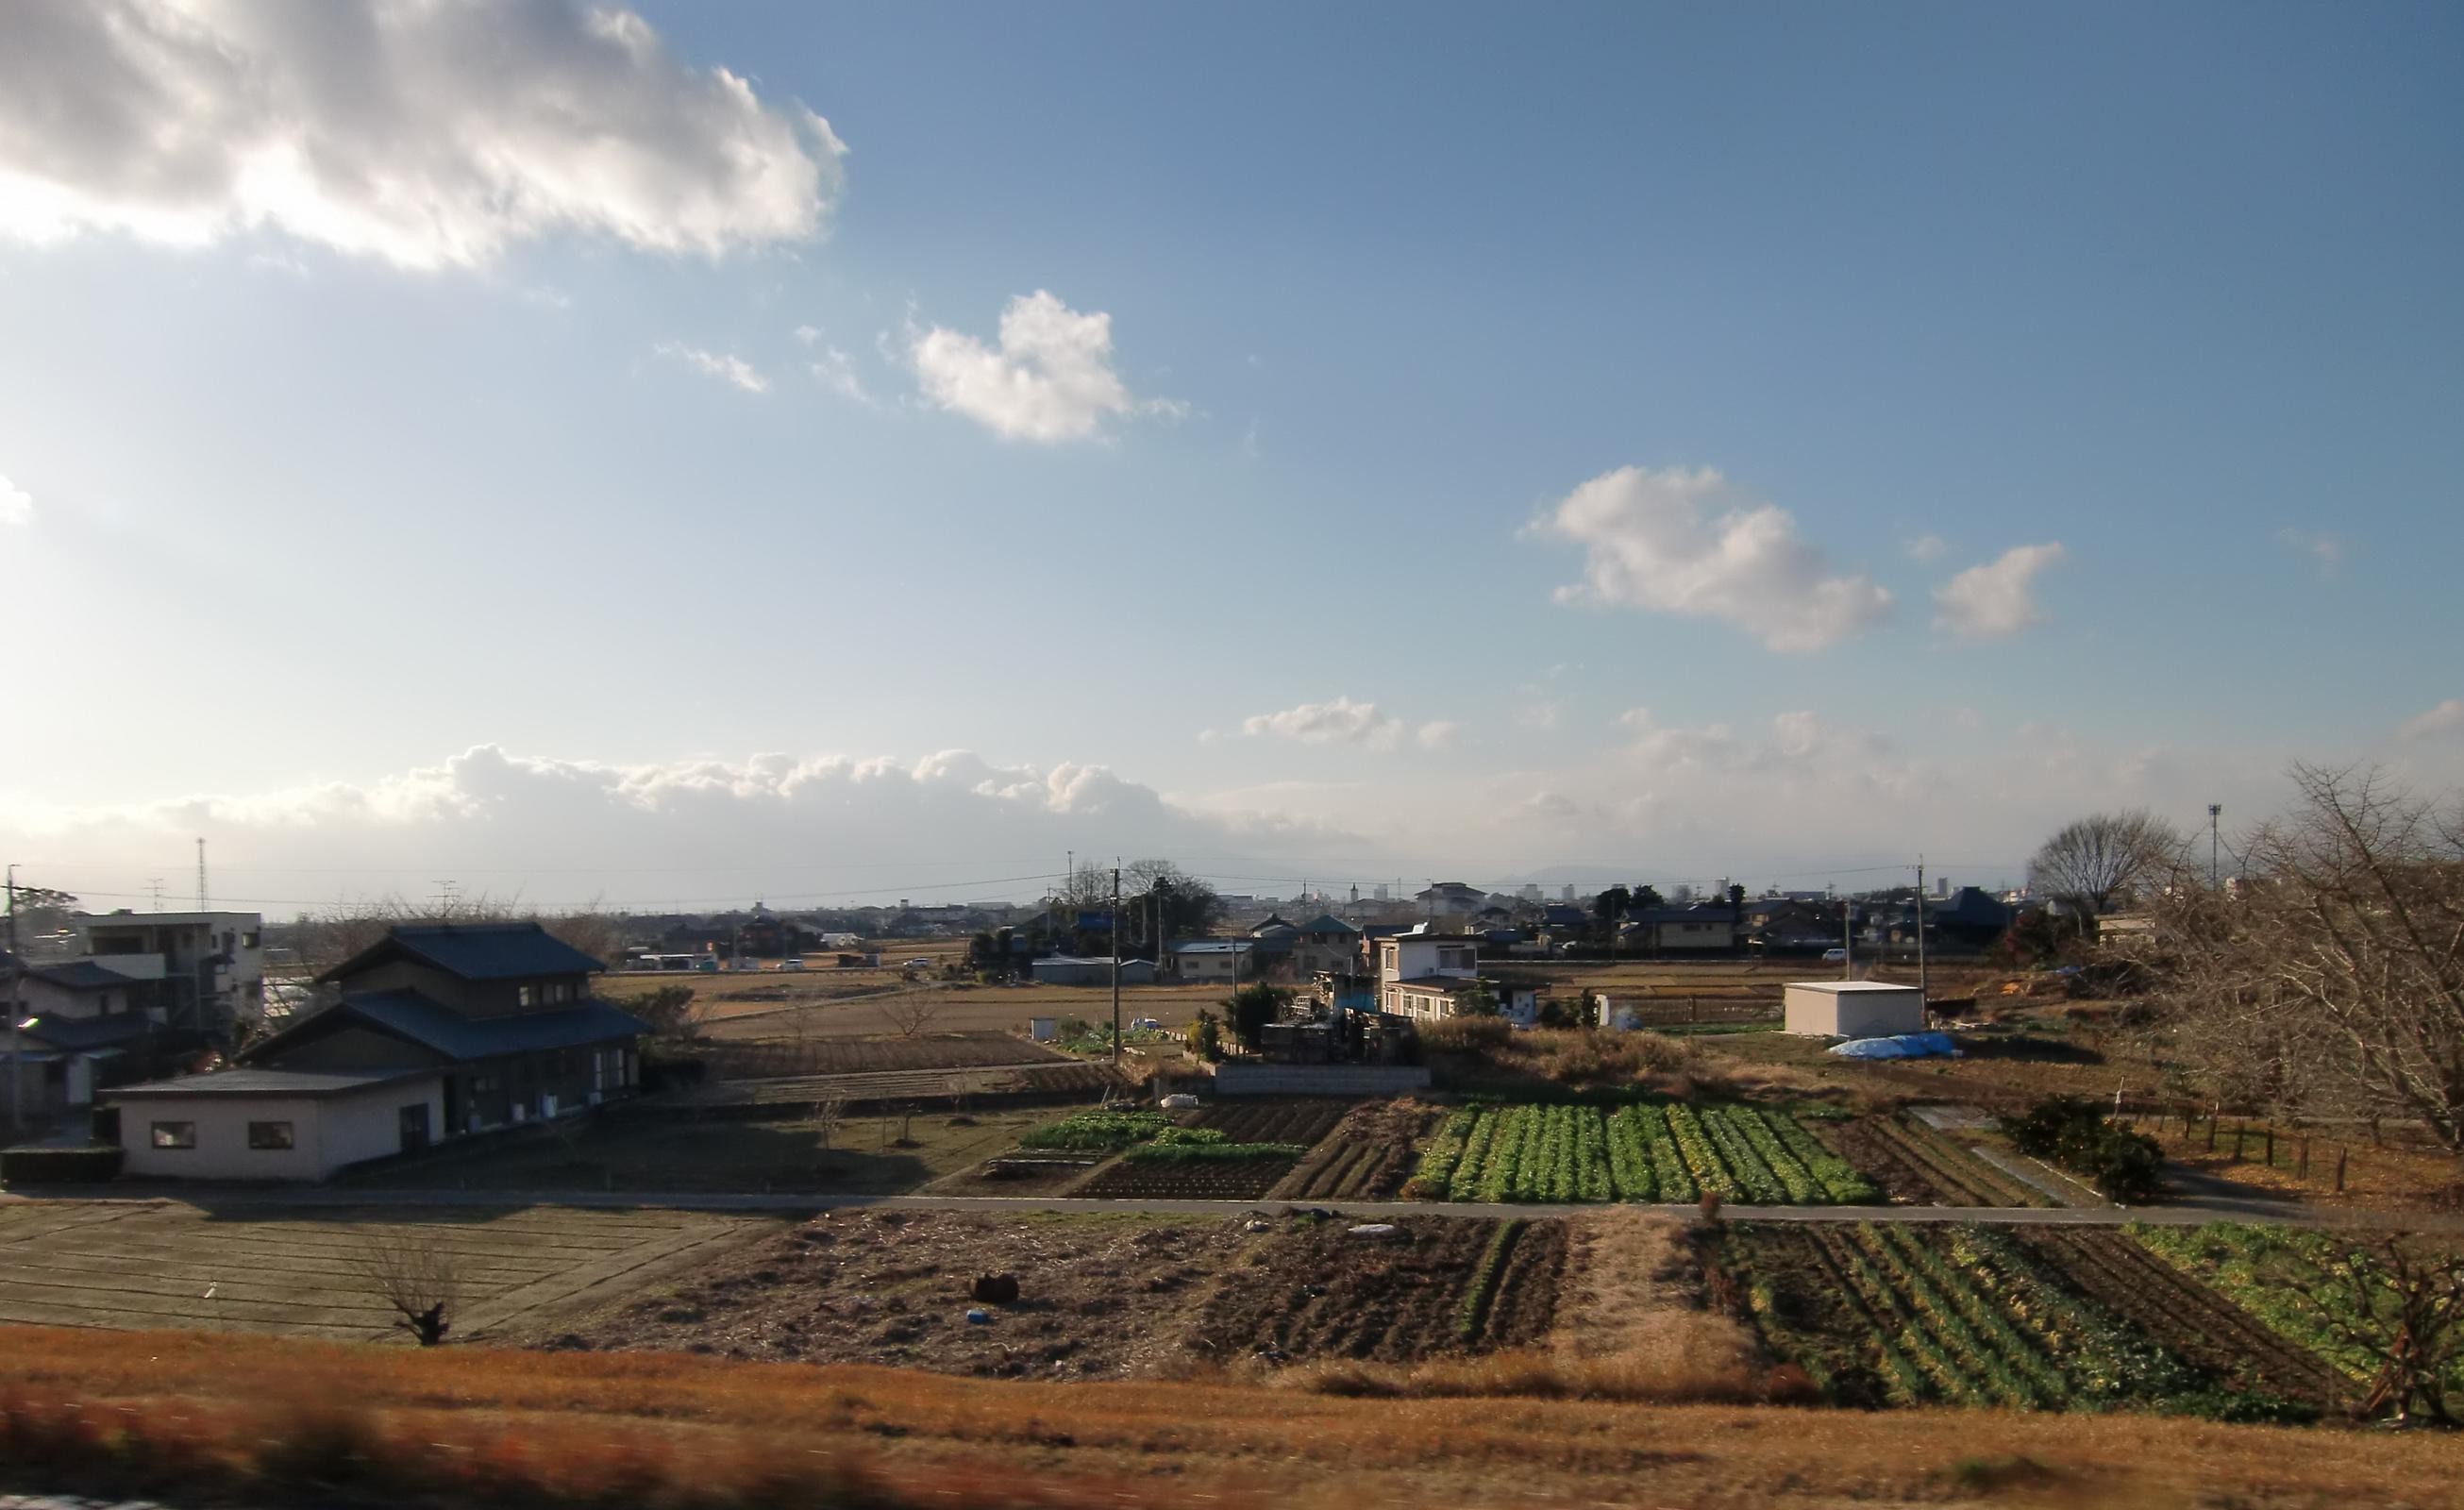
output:
[[[0,860],[2016,882],[2464,783],[2452,5],[0,7]]]

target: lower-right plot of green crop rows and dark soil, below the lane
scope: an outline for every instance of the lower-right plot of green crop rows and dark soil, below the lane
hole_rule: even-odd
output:
[[[2011,1232],[1735,1227],[1720,1266],[1764,1342],[1838,1404],[2156,1409],[2299,1419],[2314,1402],[2176,1345]],[[2282,1377],[2274,1375],[2274,1377]]]

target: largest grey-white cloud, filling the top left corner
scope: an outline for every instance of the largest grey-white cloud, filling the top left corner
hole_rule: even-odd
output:
[[[25,241],[271,229],[444,268],[582,232],[717,256],[818,236],[843,155],[628,10],[0,5],[0,236]]]

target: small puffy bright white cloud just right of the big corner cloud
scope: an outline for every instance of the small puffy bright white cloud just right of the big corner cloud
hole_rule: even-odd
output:
[[[1133,399],[1111,365],[1111,315],[1079,313],[1042,288],[1000,310],[1000,347],[934,325],[909,330],[907,360],[924,399],[1005,441],[1084,441],[1111,416],[1185,414]]]

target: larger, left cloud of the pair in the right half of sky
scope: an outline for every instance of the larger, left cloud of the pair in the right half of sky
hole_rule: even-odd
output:
[[[1712,468],[1621,466],[1574,488],[1535,532],[1587,552],[1557,601],[1720,618],[1772,650],[1821,650],[1882,623],[1890,591],[1838,574],[1796,520]]]

